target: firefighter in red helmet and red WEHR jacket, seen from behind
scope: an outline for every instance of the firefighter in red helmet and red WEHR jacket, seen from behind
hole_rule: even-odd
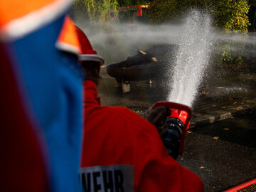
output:
[[[104,60],[79,28],[77,33],[86,72],[80,164],[84,191],[203,191],[201,179],[169,156],[153,124],[126,107],[100,106],[97,83]]]

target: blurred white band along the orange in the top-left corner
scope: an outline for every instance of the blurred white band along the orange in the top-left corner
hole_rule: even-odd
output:
[[[36,1],[36,0],[35,0]],[[26,4],[26,2],[24,2]],[[72,0],[56,0],[41,9],[16,18],[0,28],[0,41],[15,41],[64,14]]]

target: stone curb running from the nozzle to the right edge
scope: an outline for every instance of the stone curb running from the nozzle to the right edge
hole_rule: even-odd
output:
[[[256,105],[254,105],[252,107],[246,107],[242,110],[237,110],[237,111],[233,111],[233,112],[226,112],[226,113],[218,114],[218,115],[215,115],[215,116],[212,116],[212,117],[206,117],[206,118],[203,118],[203,119],[198,119],[198,120],[195,120],[194,122],[192,121],[190,126],[188,127],[188,129],[192,129],[192,128],[198,127],[200,125],[212,124],[214,122],[219,122],[221,120],[228,119],[230,117],[235,117],[235,116],[238,116],[240,114],[246,114],[248,112],[252,112],[252,111],[255,111],[255,110],[256,110]]]

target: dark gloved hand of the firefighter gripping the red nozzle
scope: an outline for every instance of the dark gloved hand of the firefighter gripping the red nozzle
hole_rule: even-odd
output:
[[[166,117],[169,116],[168,114],[169,110],[164,106],[156,107],[154,110],[150,107],[144,114],[144,119],[156,126],[161,138],[163,138],[167,132]]]

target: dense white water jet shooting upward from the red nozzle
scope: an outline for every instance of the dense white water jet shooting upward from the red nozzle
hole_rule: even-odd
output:
[[[185,26],[174,61],[174,75],[170,77],[171,90],[167,100],[191,107],[209,64],[213,29],[210,16],[199,11],[191,11]]]

